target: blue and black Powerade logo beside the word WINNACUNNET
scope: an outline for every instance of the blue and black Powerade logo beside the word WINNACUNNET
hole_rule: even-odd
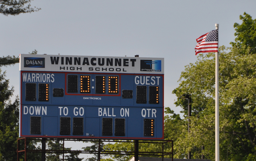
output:
[[[161,60],[140,60],[140,71],[161,72]]]

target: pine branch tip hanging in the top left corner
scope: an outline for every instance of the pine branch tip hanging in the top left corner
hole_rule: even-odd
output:
[[[30,2],[31,0],[0,0],[0,13],[5,16],[16,16],[20,13],[31,13],[41,10],[41,8],[31,7]]]

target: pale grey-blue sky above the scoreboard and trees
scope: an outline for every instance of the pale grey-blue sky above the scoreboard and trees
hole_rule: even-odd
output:
[[[184,66],[195,63],[196,38],[219,26],[230,47],[244,12],[256,19],[255,0],[34,0],[42,10],[0,15],[0,57],[37,50],[48,55],[164,57],[164,106],[176,113],[172,90]],[[215,68],[215,66],[212,66]],[[19,95],[19,64],[1,68]]]

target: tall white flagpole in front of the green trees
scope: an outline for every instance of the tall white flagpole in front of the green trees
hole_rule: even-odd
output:
[[[219,24],[215,24],[219,29]],[[218,32],[219,51],[219,32]],[[219,128],[219,52],[215,53],[215,161],[220,161],[220,128]]]

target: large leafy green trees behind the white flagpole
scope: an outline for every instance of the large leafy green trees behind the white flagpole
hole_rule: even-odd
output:
[[[256,160],[256,20],[244,13],[235,23],[232,48],[220,47],[220,160]],[[191,94],[190,133],[182,133],[175,157],[215,159],[215,54],[201,54],[181,73],[173,90],[177,106],[185,108],[182,94]],[[185,129],[185,125],[183,126]],[[201,150],[201,146],[205,149]]]

